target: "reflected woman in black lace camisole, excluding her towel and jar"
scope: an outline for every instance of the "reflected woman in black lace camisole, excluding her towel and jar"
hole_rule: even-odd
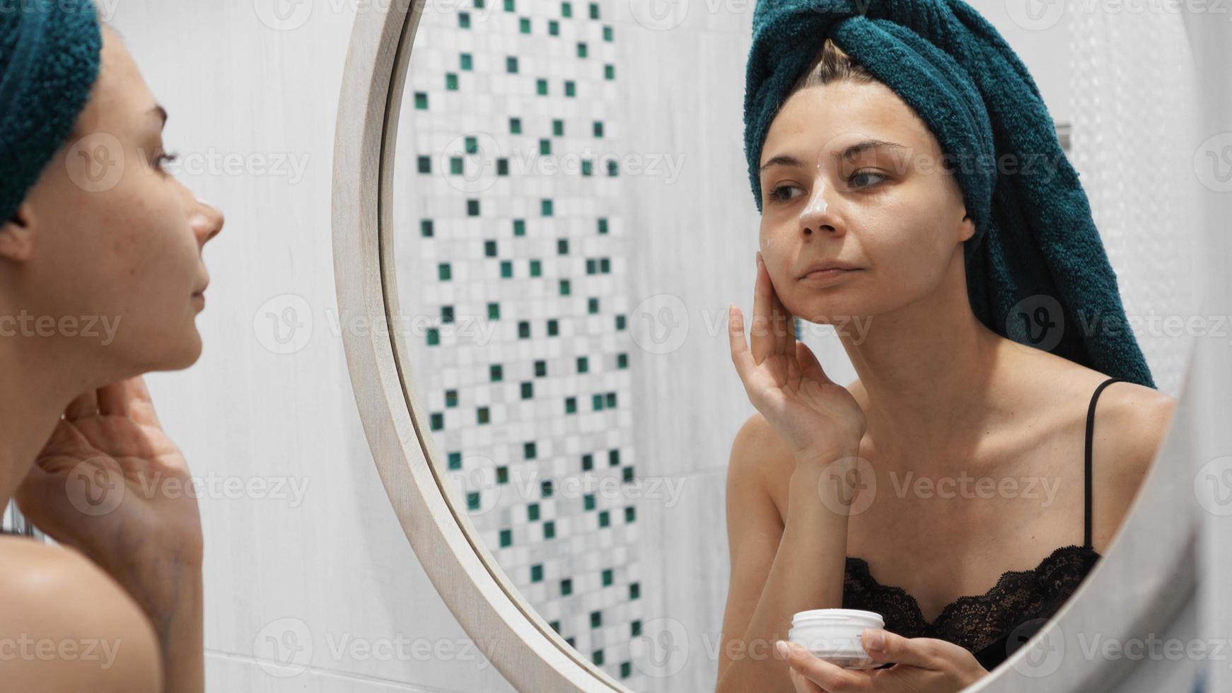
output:
[[[718,691],[977,681],[1104,553],[1167,430],[1168,395],[976,318],[973,222],[941,160],[918,114],[829,39],[766,134],[752,346],[734,306],[729,320],[758,412],[728,471]],[[859,378],[830,380],[793,315],[834,321]],[[882,613],[862,639],[882,666],[776,655],[792,614],[814,608]]]

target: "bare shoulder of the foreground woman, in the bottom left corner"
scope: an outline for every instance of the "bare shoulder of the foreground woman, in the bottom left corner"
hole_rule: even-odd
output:
[[[155,692],[158,640],[137,603],[79,551],[0,537],[0,681],[14,691]]]

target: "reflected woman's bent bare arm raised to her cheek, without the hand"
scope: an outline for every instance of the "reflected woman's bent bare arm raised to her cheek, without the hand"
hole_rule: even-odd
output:
[[[837,447],[827,457],[838,460],[855,453]],[[765,484],[775,464],[796,465],[785,521]],[[760,415],[737,433],[727,486],[732,582],[717,692],[792,692],[790,667],[775,654],[775,640],[787,639],[796,612],[843,606],[848,515],[841,508],[846,506],[837,495],[823,499],[837,494],[834,481],[843,480],[841,471],[829,459],[792,460]]]

